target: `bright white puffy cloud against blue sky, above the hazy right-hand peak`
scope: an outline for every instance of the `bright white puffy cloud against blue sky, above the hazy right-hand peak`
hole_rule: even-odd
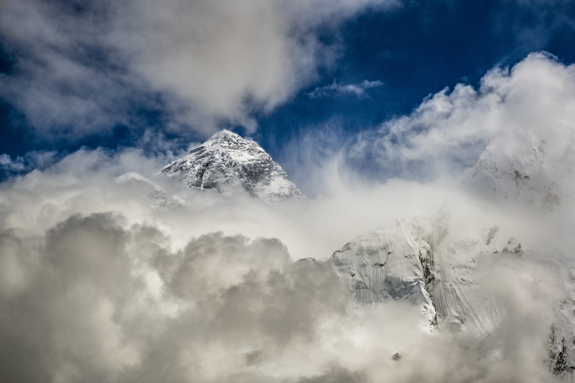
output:
[[[575,65],[532,53],[512,68],[494,68],[478,89],[457,84],[428,96],[413,113],[364,133],[351,156],[374,155],[389,175],[420,178],[465,171],[500,138],[570,140]]]

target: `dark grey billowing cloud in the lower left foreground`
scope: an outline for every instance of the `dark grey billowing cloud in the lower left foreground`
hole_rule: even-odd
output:
[[[329,266],[290,264],[277,239],[206,234],[172,253],[155,227],[126,228],[102,213],[22,240],[9,231],[1,239],[7,381],[249,374],[247,361],[310,342],[314,323],[344,312]]]

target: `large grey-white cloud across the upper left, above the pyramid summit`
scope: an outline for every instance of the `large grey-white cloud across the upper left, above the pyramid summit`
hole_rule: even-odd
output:
[[[0,34],[14,65],[0,95],[39,133],[72,140],[143,125],[142,108],[163,111],[168,131],[253,131],[254,111],[270,111],[334,63],[340,44],[322,34],[394,3],[6,2]]]

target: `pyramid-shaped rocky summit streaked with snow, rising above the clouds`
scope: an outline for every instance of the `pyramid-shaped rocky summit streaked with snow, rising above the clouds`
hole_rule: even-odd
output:
[[[190,153],[160,169],[191,188],[222,190],[241,185],[255,197],[271,203],[305,198],[283,169],[256,142],[221,130]]]

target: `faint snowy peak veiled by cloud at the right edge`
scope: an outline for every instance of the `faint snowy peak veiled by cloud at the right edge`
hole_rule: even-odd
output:
[[[465,184],[486,198],[543,212],[572,203],[573,142],[537,137],[492,141]]]

